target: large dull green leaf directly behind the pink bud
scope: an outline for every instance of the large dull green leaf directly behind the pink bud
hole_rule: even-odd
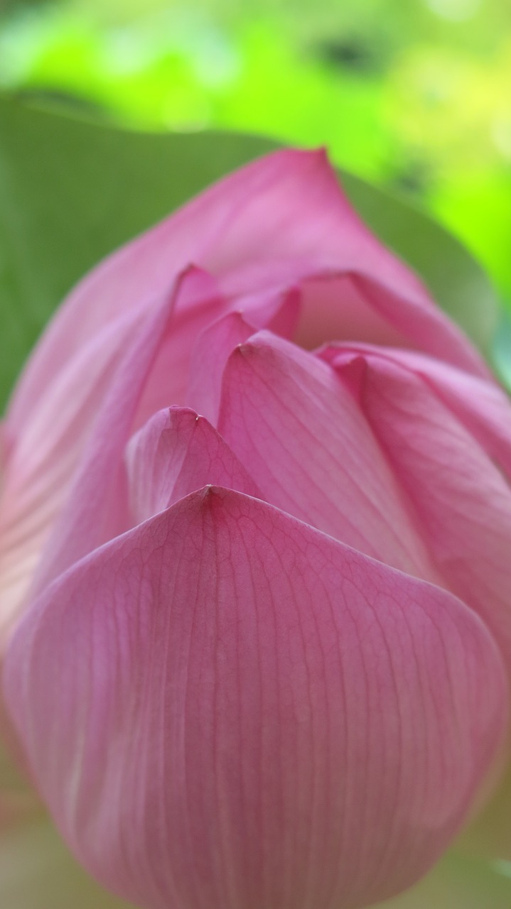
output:
[[[0,99],[0,401],[49,316],[102,256],[275,143],[222,134],[143,134]],[[438,225],[353,176],[369,225],[420,272],[486,350],[495,298]]]

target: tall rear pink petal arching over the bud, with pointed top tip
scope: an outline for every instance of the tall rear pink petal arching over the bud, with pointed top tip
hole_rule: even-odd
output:
[[[398,329],[406,330],[416,319],[423,331],[420,346],[430,350],[430,344],[443,344],[447,360],[485,372],[474,349],[436,309],[416,276],[362,224],[324,153],[283,151],[213,186],[109,256],[77,285],[16,390],[11,409],[16,425],[23,424],[37,395],[52,381],[55,364],[73,359],[120,314],[145,308],[168,293],[174,276],[192,262],[223,275],[225,290],[235,296],[254,288],[295,285],[322,272],[376,280],[382,299],[388,293],[407,301]],[[437,349],[431,352],[438,354]]]

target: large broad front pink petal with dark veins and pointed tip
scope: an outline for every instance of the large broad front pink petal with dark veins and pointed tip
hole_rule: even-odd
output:
[[[147,909],[398,891],[462,820],[507,706],[451,594],[211,487],[43,594],[5,696],[66,839]]]

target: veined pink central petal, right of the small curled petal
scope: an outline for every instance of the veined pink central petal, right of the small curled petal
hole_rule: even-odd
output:
[[[316,357],[264,332],[238,346],[218,429],[268,502],[409,574],[437,577],[366,419]]]

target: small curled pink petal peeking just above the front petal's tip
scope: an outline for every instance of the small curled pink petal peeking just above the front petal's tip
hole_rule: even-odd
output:
[[[126,465],[134,524],[206,484],[260,497],[222,436],[187,407],[158,411],[130,440]]]

